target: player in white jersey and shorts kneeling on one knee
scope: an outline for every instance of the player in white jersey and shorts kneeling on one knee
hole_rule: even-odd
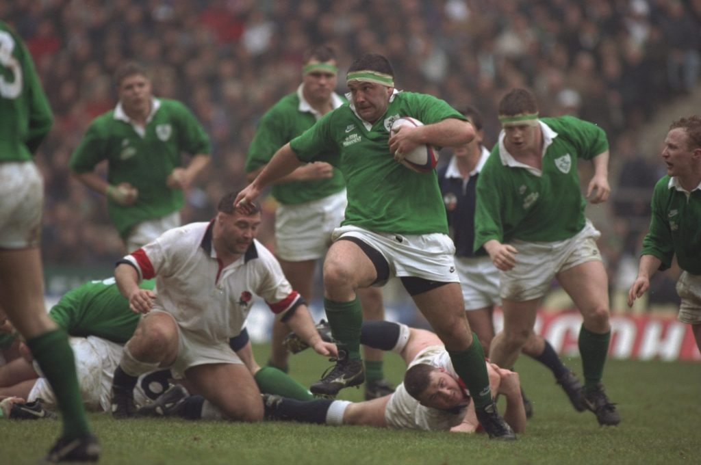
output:
[[[253,293],[316,352],[337,354],[335,345],[320,338],[273,254],[254,239],[259,208],[236,211],[236,194],[224,195],[209,223],[169,230],[118,263],[119,290],[134,312],[145,315],[114,373],[114,417],[135,414],[133,389],[140,374],[170,368],[224,417],[262,419],[260,391],[229,347],[231,335],[243,328]],[[151,277],[156,277],[157,296],[138,286]]]

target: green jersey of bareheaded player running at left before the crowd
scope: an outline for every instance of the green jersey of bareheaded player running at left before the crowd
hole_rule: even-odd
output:
[[[73,152],[69,167],[77,173],[92,172],[95,165],[107,160],[107,182],[128,182],[139,190],[133,205],[107,199],[109,218],[124,238],[133,225],[182,208],[182,190],[165,183],[172,170],[182,165],[182,152],[209,154],[209,137],[183,104],[154,99],[143,135],[129,123],[121,105],[95,118]]]

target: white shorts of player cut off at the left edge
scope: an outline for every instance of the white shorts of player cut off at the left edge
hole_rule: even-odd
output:
[[[39,247],[43,179],[34,162],[0,163],[0,249]]]

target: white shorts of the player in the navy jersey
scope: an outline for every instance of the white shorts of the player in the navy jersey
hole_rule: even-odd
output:
[[[456,257],[455,268],[460,277],[465,310],[501,305],[499,270],[489,256]]]

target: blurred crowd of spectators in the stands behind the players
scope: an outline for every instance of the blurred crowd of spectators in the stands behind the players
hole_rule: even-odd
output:
[[[700,68],[701,0],[0,0],[0,18],[25,39],[55,113],[36,158],[46,179],[49,277],[109,272],[124,252],[104,197],[68,171],[90,121],[116,104],[119,64],[147,67],[154,94],[184,102],[210,134],[212,164],[183,211],[185,222],[203,221],[224,192],[245,186],[257,120],[297,88],[304,51],[329,43],[339,54],[338,92],[353,57],[381,53],[397,88],[477,106],[489,147],[496,104],[515,86],[536,92],[543,116],[571,113],[601,125],[613,197],[591,215],[620,293],[634,279],[651,189],[664,174],[666,129],[653,143],[642,136],[658,113],[693,97]],[[271,245],[271,230],[260,239]],[[651,304],[674,303],[674,273],[658,274]],[[623,310],[615,300],[612,307]]]

